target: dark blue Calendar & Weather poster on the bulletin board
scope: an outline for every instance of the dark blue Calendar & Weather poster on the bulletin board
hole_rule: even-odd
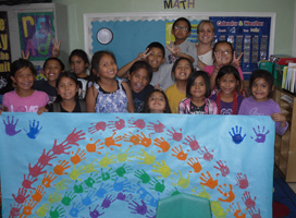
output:
[[[210,16],[215,27],[215,41],[233,44],[236,55],[244,52],[242,70],[249,80],[260,60],[269,60],[271,17]]]

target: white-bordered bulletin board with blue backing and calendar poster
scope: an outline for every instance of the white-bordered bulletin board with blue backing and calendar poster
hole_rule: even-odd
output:
[[[114,52],[119,68],[134,60],[152,41],[173,41],[171,28],[177,17],[192,23],[187,40],[197,44],[196,27],[201,20],[215,26],[214,40],[227,40],[237,53],[244,52],[242,69],[248,75],[260,59],[273,53],[275,13],[86,13],[85,50],[91,57],[98,50]],[[213,41],[214,43],[214,41]]]

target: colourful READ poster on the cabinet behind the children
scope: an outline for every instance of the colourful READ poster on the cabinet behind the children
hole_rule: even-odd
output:
[[[55,29],[53,12],[18,13],[18,31],[21,49],[30,61],[44,61],[51,57],[52,39]]]

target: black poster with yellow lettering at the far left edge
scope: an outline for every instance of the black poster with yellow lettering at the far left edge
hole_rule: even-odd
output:
[[[12,90],[10,69],[11,50],[8,12],[0,11],[0,95]],[[0,99],[1,104],[1,99]]]

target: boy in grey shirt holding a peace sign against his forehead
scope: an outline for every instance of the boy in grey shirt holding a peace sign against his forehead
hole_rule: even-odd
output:
[[[164,64],[164,47],[153,41],[149,44],[145,52],[139,53],[136,59],[125,64],[119,70],[119,77],[127,77],[131,66],[138,60],[146,60],[147,63],[152,68],[153,76],[150,84],[157,88],[165,90],[168,87],[174,84],[171,77],[171,71],[173,64]]]

